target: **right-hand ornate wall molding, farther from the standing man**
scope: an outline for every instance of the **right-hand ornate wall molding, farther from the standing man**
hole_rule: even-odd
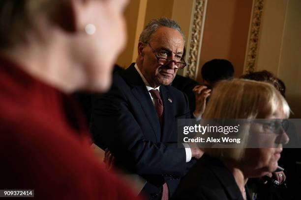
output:
[[[248,37],[248,44],[245,58],[245,73],[251,73],[255,70],[256,57],[258,52],[259,31],[263,11],[264,0],[254,0],[253,13]]]

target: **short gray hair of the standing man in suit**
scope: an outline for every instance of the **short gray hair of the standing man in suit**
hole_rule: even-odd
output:
[[[160,17],[151,20],[149,24],[144,27],[142,33],[140,34],[139,42],[150,42],[151,34],[154,33],[161,26],[178,30],[181,33],[185,44],[185,35],[182,32],[180,25],[176,21],[168,19],[167,17]]]

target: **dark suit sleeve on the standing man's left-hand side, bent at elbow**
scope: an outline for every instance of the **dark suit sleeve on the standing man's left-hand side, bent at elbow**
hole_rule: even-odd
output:
[[[95,144],[108,148],[122,165],[139,175],[184,175],[185,150],[177,143],[146,139],[126,92],[129,91],[113,84],[108,94],[92,98],[91,132]]]

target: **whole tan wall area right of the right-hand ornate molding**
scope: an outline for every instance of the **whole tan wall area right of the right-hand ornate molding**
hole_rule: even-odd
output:
[[[268,70],[286,85],[286,99],[301,118],[301,1],[265,0],[256,71]]]

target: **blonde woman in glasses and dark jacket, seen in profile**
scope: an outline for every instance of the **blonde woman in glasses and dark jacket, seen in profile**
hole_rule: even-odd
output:
[[[272,85],[234,79],[216,85],[203,118],[285,119],[289,113],[286,100]],[[261,128],[261,124],[250,126],[242,137],[250,137]],[[282,144],[289,140],[283,128],[280,129],[280,134],[268,138],[275,148],[204,149],[203,157],[181,181],[175,199],[248,199],[244,187],[247,179],[266,175],[278,166]]]

